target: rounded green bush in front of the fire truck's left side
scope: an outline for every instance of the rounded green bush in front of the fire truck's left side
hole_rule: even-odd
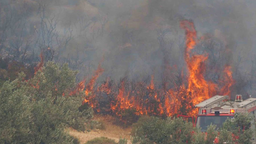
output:
[[[152,117],[136,130],[133,144],[181,144],[192,141],[191,131],[195,128],[183,119],[166,120]]]

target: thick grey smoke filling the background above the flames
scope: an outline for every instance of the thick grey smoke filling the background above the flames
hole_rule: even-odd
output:
[[[195,53],[208,53],[206,78],[231,65],[236,91],[253,94],[256,72],[255,0],[0,0],[0,48],[29,46],[68,62],[89,78],[101,62],[118,80],[158,83],[186,74],[182,19],[198,32]],[[22,51],[22,50],[20,50]],[[213,71],[214,70],[214,71]]]

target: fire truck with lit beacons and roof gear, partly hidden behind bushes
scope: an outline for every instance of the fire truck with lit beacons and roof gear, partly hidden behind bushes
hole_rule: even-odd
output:
[[[256,120],[256,98],[243,100],[242,95],[236,95],[235,101],[230,101],[229,96],[214,96],[196,105],[199,112],[196,118],[196,126],[201,127],[202,132],[206,132],[207,127],[216,125],[221,127],[226,119],[233,119],[236,112],[248,112],[254,116],[251,121],[252,129],[255,129]],[[256,143],[256,137],[253,136]]]

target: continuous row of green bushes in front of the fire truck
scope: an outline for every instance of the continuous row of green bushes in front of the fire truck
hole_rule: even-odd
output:
[[[208,126],[207,133],[182,119],[166,120],[151,117],[138,125],[133,144],[251,144],[253,132],[250,127],[252,116],[246,113],[235,114],[235,119],[228,119],[221,129],[216,125]]]

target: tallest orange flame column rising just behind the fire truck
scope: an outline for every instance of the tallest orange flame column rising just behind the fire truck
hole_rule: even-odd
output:
[[[186,32],[185,61],[189,72],[188,91],[191,92],[194,104],[210,98],[216,93],[217,85],[204,79],[206,54],[192,54],[191,50],[196,46],[197,32],[192,21],[183,20],[180,26]]]

